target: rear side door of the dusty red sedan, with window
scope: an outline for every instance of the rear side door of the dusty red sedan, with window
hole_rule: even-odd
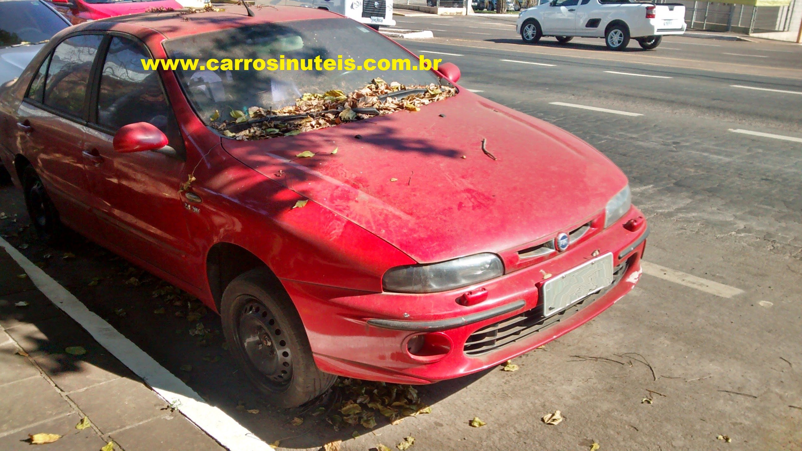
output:
[[[101,35],[63,40],[34,75],[17,111],[17,142],[40,178],[61,220],[83,234],[96,233],[83,154],[87,124],[87,81]]]

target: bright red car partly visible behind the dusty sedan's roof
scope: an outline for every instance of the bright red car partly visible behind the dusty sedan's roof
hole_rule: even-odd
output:
[[[49,0],[75,25],[87,20],[115,17],[125,14],[144,13],[146,10],[158,8],[172,8],[180,10],[181,6],[176,0]],[[203,7],[203,2],[199,7]],[[190,6],[196,6],[192,4]]]

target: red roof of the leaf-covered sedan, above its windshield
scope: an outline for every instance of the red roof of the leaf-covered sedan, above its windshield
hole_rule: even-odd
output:
[[[5,0],[0,0],[5,1]],[[209,31],[226,30],[261,23],[291,22],[306,19],[342,18],[328,10],[301,6],[251,6],[253,17],[249,17],[241,5],[225,5],[222,11],[188,13],[188,10],[170,10],[158,13],[130,14],[103,18],[79,25],[84,30],[113,30],[115,23],[140,26],[144,34],[156,31],[166,39],[186,35],[197,35]]]

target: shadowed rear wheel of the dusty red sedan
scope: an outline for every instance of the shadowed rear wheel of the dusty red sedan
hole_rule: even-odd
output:
[[[30,223],[34,226],[38,239],[50,244],[59,242],[64,235],[64,226],[59,221],[59,210],[53,205],[42,179],[31,165],[22,169],[22,189]]]

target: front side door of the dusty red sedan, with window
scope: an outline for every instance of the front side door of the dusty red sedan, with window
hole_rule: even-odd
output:
[[[103,234],[110,246],[185,278],[189,246],[184,201],[184,143],[160,75],[144,70],[151,55],[139,40],[111,35],[91,103],[83,144],[99,161],[89,172]],[[119,128],[137,122],[156,125],[177,156],[156,152],[115,152]]]

